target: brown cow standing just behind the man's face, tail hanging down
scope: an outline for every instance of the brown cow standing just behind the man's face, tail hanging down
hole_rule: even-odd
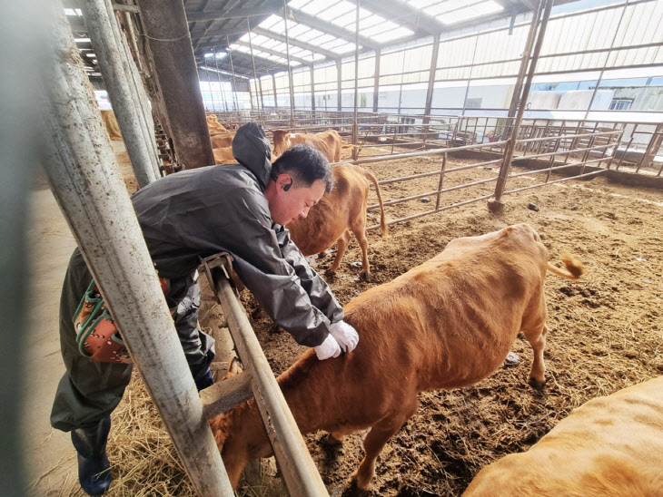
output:
[[[331,171],[334,175],[333,190],[322,196],[305,219],[298,219],[288,225],[292,241],[305,256],[319,254],[338,242],[336,258],[327,270],[327,274],[333,275],[354,233],[361,247],[361,276],[368,278],[371,272],[366,237],[366,208],[370,188],[368,180],[373,182],[380,202],[382,236],[387,235],[387,220],[384,217],[378,180],[371,171],[352,164],[337,164]]]

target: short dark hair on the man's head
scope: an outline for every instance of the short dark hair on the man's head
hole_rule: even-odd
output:
[[[334,186],[334,177],[327,158],[322,152],[309,145],[298,144],[284,151],[272,164],[272,178],[279,174],[290,174],[295,187],[310,187],[315,180],[322,180],[324,190],[329,193]]]

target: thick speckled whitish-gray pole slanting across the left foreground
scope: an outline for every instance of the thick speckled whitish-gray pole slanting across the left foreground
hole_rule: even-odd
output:
[[[184,470],[199,495],[232,496],[193,376],[117,170],[61,2],[45,67],[45,172]],[[81,91],[83,89],[84,91]]]

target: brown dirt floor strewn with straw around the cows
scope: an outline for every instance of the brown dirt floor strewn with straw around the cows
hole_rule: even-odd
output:
[[[446,164],[447,171],[469,163],[452,159]],[[385,180],[436,171],[440,160],[419,158],[367,167]],[[497,168],[491,166],[454,171],[445,177],[444,187],[487,180],[496,174]],[[512,181],[508,188],[534,185],[542,178],[545,175],[532,172]],[[551,180],[560,178],[553,175]],[[393,200],[435,190],[438,184],[439,177],[430,177],[384,185],[381,191],[385,200]],[[446,192],[440,206],[487,195],[493,189],[490,181],[471,190]],[[375,200],[372,189],[371,199]],[[427,200],[390,206],[388,219],[433,209],[437,199],[429,196]],[[502,367],[475,386],[421,393],[419,410],[384,448],[372,490],[363,495],[460,495],[483,466],[508,453],[527,450],[574,407],[663,374],[662,192],[597,178],[523,190],[504,200],[500,215],[490,214],[486,200],[480,200],[392,225],[384,239],[372,230],[371,277],[359,278],[361,251],[353,239],[337,277],[330,279],[334,294],[346,304],[362,291],[437,255],[451,239],[519,222],[528,222],[539,231],[553,263],[567,250],[584,261],[587,271],[579,281],[547,277],[549,336],[544,390],[527,385],[531,348],[519,337],[512,350],[520,356],[520,365]],[[538,210],[531,210],[529,204]],[[370,218],[369,224],[377,223],[376,210]],[[332,256],[333,249],[312,262],[323,272]],[[272,321],[251,297],[245,295],[244,303],[274,373],[282,373],[304,347],[297,346],[286,332],[272,332]],[[218,328],[219,317],[219,306],[205,303],[202,326]],[[323,448],[324,435],[305,438],[330,494],[356,493],[349,483],[363,457],[363,434],[346,437],[341,450],[332,455]],[[107,493],[110,496],[194,494],[138,377],[114,413],[109,457],[115,474]],[[74,487],[61,491],[63,495],[77,494]],[[243,488],[240,494],[276,495],[277,491]]]

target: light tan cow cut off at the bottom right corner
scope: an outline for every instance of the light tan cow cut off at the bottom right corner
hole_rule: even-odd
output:
[[[663,376],[574,409],[526,453],[480,471],[463,497],[663,495]]]

